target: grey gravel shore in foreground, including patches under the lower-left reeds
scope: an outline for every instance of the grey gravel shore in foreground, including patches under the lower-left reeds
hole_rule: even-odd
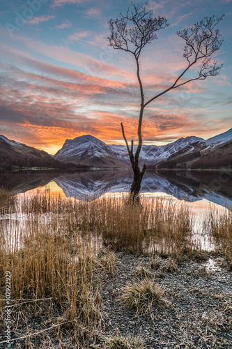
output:
[[[29,346],[18,341],[10,346],[0,344],[0,348],[104,348],[107,339],[115,334],[141,336],[144,348],[232,348],[232,274],[220,266],[219,259],[212,255],[201,262],[185,258],[176,265],[164,258],[152,266],[146,255],[138,257],[122,252],[115,255],[114,273],[96,274],[96,279],[102,279],[103,306],[100,335],[94,346],[77,346],[70,338],[70,334],[75,336],[73,329],[62,327],[60,344],[55,328],[31,337]],[[153,308],[153,318],[137,315],[136,309],[120,302],[122,288],[138,281],[134,272],[141,263],[150,270],[150,280],[164,289],[167,299],[167,306]],[[49,313],[49,302],[47,309]],[[13,328],[17,330],[13,336],[23,336],[26,328],[33,334],[57,325],[57,319],[39,312],[39,305],[36,314],[21,310],[14,318]],[[57,316],[62,318],[61,309],[57,310]]]

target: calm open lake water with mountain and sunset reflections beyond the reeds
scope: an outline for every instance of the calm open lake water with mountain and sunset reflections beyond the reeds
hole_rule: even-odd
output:
[[[120,196],[130,191],[132,172],[85,171],[55,172],[22,171],[0,172],[0,187],[22,195],[33,195],[49,188],[50,195],[62,195],[76,200],[95,200],[102,196]],[[202,234],[203,219],[210,205],[219,210],[232,207],[232,173],[228,172],[163,172],[147,171],[141,184],[141,195],[164,198],[174,202],[191,202],[195,217],[194,239],[205,250],[213,249]],[[23,224],[22,222],[20,224]],[[20,226],[17,227],[20,229]]]

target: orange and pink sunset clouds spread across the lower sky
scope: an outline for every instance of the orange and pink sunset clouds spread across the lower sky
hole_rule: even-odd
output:
[[[63,46],[49,47],[29,42],[29,47],[82,68],[99,63]],[[185,67],[185,59],[178,60],[179,47],[171,46],[172,49],[167,61],[164,59],[165,50],[153,50],[144,58],[141,76],[145,82],[146,100],[166,89],[178,71]],[[54,154],[67,138],[86,133],[107,143],[123,144],[120,126],[123,121],[127,138],[137,140],[140,99],[133,67],[130,71],[130,67],[117,68],[100,62],[100,72],[104,70],[104,74],[99,71],[96,74],[81,73],[38,61],[19,50],[10,51],[3,47],[3,52],[6,57],[15,57],[16,62],[14,66],[0,63],[0,125],[1,133],[6,137]],[[155,59],[164,64],[155,65]],[[26,68],[19,69],[18,64]],[[153,70],[154,66],[156,70]],[[226,82],[224,77],[223,82]],[[206,88],[207,84],[192,82],[148,105],[142,127],[144,143],[171,142],[187,135],[210,136],[215,128],[210,118],[214,112],[213,96],[208,101],[208,110],[200,106],[203,87]],[[194,95],[198,96],[196,101]],[[206,99],[201,98],[201,101]],[[219,110],[215,114],[217,112]],[[225,128],[228,124],[230,128],[230,120],[225,120],[225,117],[215,120],[215,124],[218,128]]]

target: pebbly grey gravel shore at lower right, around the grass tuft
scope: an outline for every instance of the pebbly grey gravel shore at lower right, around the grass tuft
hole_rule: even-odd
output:
[[[167,272],[168,260],[150,269],[153,282],[164,288],[170,302],[165,309],[153,309],[153,320],[137,316],[121,306],[121,288],[134,280],[134,270],[149,258],[118,253],[118,270],[102,283],[105,336],[119,332],[140,335],[145,348],[232,348],[232,277],[217,260],[185,260],[176,272]]]

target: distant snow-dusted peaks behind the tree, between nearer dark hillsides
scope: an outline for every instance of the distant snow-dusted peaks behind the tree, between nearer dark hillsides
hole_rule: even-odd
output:
[[[140,163],[156,164],[167,159],[171,154],[189,146],[203,138],[191,136],[180,138],[173,143],[157,147],[143,145],[140,153]],[[136,146],[134,147],[134,152]],[[54,158],[64,163],[81,163],[98,167],[128,167],[130,160],[124,145],[105,144],[91,135],[83,135],[74,140],[66,140],[63,147],[54,155]]]

